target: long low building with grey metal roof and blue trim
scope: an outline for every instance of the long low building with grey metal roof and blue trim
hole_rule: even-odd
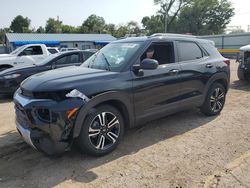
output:
[[[25,44],[45,44],[60,48],[101,48],[116,40],[109,34],[49,34],[49,33],[6,33],[5,46],[13,51]]]

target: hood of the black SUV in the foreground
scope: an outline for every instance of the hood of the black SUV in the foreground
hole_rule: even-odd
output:
[[[85,67],[66,67],[35,74],[21,84],[32,92],[59,91],[91,85],[94,82],[113,78],[118,73]]]

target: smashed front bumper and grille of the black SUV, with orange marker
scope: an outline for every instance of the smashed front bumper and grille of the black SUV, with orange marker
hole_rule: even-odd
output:
[[[32,99],[17,91],[14,103],[16,127],[25,142],[39,151],[54,155],[70,146],[75,116],[86,101],[81,98],[60,102]]]

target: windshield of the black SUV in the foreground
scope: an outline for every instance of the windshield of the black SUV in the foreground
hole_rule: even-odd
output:
[[[111,43],[91,56],[81,66],[93,69],[120,71],[137,52],[141,43]]]

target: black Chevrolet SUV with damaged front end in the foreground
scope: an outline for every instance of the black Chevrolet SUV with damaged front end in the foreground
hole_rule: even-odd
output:
[[[14,96],[23,139],[46,154],[105,155],[125,129],[177,111],[222,110],[230,62],[210,41],[157,34],[108,44],[80,67],[33,75]]]

